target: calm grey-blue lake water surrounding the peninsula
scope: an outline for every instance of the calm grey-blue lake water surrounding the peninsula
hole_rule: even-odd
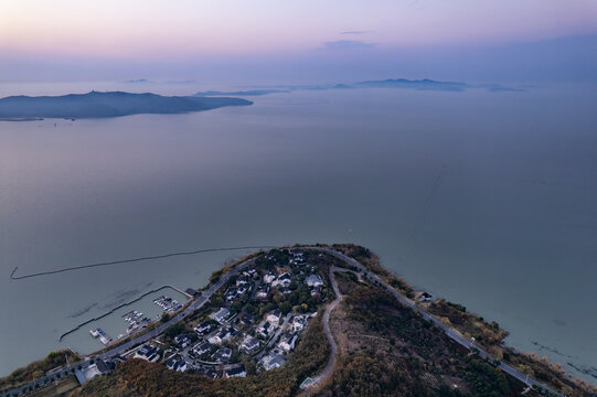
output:
[[[244,253],[10,281],[15,266],[353,242],[580,376],[567,363],[597,367],[596,93],[299,92],[190,115],[0,122],[0,374]]]

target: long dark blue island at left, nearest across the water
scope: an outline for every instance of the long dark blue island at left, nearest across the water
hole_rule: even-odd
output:
[[[70,94],[63,96],[11,96],[0,99],[0,119],[102,118],[139,114],[183,114],[253,103],[241,98],[161,96],[122,92]]]

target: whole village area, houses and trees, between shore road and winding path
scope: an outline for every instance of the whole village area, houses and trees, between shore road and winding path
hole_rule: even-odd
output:
[[[275,249],[231,277],[200,313],[121,358],[211,378],[270,371],[288,360],[327,294],[301,249]]]

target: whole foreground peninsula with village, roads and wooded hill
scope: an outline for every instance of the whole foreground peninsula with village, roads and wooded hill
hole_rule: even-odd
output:
[[[544,358],[505,346],[507,332],[497,323],[414,290],[351,244],[252,254],[214,271],[193,299],[168,310],[145,332],[102,352],[53,353],[0,379],[0,395],[53,395],[60,385],[73,397],[597,391]],[[63,355],[70,358],[61,362]],[[17,378],[25,380],[11,385]]]

